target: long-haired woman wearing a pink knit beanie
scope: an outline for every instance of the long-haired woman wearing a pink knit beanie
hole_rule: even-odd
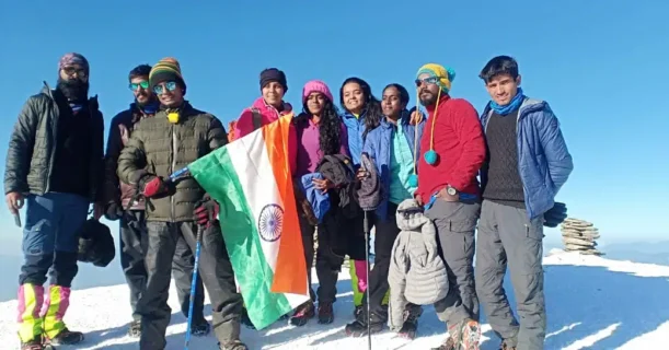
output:
[[[295,119],[297,168],[293,176],[296,182],[301,183],[302,176],[315,173],[319,163],[325,155],[344,154],[350,156],[347,148],[346,128],[339,119],[333,101],[330,89],[320,80],[312,80],[302,89],[302,113]],[[333,183],[321,178],[312,179],[312,190],[330,194],[327,198],[331,201],[330,209],[320,222],[315,219],[309,220],[305,213],[309,209],[303,210],[304,212],[300,214],[300,229],[308,271],[311,271],[314,257],[313,234],[316,226],[319,230],[319,247],[315,261],[319,289],[314,293],[310,288],[311,301],[298,306],[295,311],[290,318],[290,323],[295,326],[303,326],[316,315],[320,324],[331,324],[334,320],[333,303],[337,294],[338,272],[344,262],[344,257],[333,253],[332,245],[333,240],[339,236],[338,231],[341,230],[336,224],[336,218],[339,214],[338,208],[336,202],[332,202],[338,196],[333,195],[337,190]],[[296,188],[296,190],[301,189]],[[311,273],[308,276],[311,276]],[[309,284],[311,285],[311,278]]]

